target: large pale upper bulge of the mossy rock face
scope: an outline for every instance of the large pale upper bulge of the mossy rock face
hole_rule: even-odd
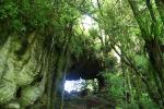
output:
[[[3,75],[2,78],[16,83],[17,86],[28,85],[37,74],[34,50],[32,52],[32,49],[28,49],[27,55],[19,59],[15,50],[21,48],[21,41],[13,38],[9,38],[3,48],[0,49],[0,75]]]

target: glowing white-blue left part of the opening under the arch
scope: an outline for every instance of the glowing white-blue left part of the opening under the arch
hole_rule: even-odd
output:
[[[81,88],[83,87],[85,81],[80,78],[77,81],[66,81],[65,82],[65,90],[68,93],[71,93],[73,90],[75,92],[80,92]]]

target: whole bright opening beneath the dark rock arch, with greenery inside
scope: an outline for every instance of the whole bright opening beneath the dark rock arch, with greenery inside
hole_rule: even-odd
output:
[[[98,90],[98,81],[94,80],[66,80],[65,82],[65,98],[83,97],[94,95]]]

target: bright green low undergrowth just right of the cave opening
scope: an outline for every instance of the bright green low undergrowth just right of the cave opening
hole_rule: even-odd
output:
[[[125,80],[121,72],[103,72],[106,84],[107,84],[107,96],[113,99],[115,102],[116,109],[139,109],[139,104],[142,105],[143,109],[159,109],[159,107],[152,101],[148,93],[141,92],[140,99],[137,99],[138,94],[133,95],[136,92],[136,87],[132,87],[133,94],[131,95],[131,102],[128,104],[124,99],[126,97],[125,92],[128,92],[129,88],[125,87]]]

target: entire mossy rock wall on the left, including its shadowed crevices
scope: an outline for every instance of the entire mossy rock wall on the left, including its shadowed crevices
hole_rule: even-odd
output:
[[[25,38],[22,38],[25,37]],[[20,109],[34,105],[45,93],[58,53],[48,52],[35,32],[11,35],[0,47],[0,106]]]

